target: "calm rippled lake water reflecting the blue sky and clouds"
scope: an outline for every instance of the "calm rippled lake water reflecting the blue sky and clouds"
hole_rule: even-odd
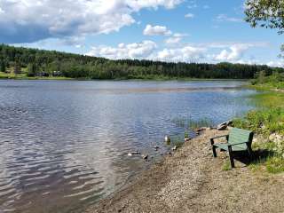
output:
[[[177,121],[251,109],[240,85],[0,81],[0,212],[81,212],[170,150]]]

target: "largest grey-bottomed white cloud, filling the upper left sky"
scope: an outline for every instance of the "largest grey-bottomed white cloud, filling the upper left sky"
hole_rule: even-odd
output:
[[[46,38],[108,34],[134,23],[134,12],[160,6],[171,9],[183,1],[2,0],[0,41],[32,43]]]

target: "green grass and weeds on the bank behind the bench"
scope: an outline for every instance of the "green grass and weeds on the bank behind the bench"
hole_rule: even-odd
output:
[[[233,120],[233,125],[238,128],[254,130],[258,136],[253,143],[256,152],[266,151],[267,156],[259,157],[251,162],[251,170],[266,170],[276,174],[284,172],[284,141],[269,139],[271,134],[284,136],[284,92],[273,91],[284,88],[282,82],[266,79],[264,83],[256,83],[252,87],[264,92],[251,97],[256,104],[256,110],[248,112],[243,118]],[[263,138],[263,139],[260,139]]]

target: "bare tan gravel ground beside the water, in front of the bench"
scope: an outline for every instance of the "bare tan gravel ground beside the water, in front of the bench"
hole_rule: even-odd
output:
[[[213,159],[209,138],[224,133],[206,131],[86,212],[284,212],[284,175]]]

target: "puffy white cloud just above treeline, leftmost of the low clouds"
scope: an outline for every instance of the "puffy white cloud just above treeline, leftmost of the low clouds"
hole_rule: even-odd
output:
[[[157,45],[153,41],[129,44],[120,43],[117,47],[92,47],[87,55],[104,57],[107,59],[146,59],[156,48]]]

